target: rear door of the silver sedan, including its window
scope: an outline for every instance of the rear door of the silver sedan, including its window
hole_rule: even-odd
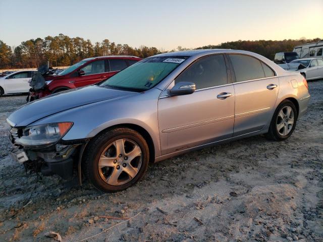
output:
[[[235,76],[234,137],[256,132],[270,124],[278,96],[279,79],[259,59],[229,54]]]

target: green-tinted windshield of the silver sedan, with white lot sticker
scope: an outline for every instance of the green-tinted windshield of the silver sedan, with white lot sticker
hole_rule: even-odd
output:
[[[99,86],[139,92],[145,91],[157,85],[187,58],[188,56],[146,58],[107,79]]]

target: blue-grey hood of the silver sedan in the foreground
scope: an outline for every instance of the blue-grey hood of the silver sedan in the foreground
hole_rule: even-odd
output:
[[[74,107],[136,94],[138,93],[107,89],[98,86],[72,89],[27,103],[11,113],[7,121],[11,126],[24,127],[38,119]]]

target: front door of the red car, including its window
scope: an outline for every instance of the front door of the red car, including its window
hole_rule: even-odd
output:
[[[83,87],[98,83],[108,77],[108,71],[105,66],[104,59],[100,59],[82,67],[79,72],[84,72],[84,75],[75,78],[75,86]]]

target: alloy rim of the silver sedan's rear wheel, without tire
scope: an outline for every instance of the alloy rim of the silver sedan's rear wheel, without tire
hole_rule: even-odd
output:
[[[291,106],[284,106],[278,113],[276,128],[281,136],[288,135],[294,126],[295,114]]]

